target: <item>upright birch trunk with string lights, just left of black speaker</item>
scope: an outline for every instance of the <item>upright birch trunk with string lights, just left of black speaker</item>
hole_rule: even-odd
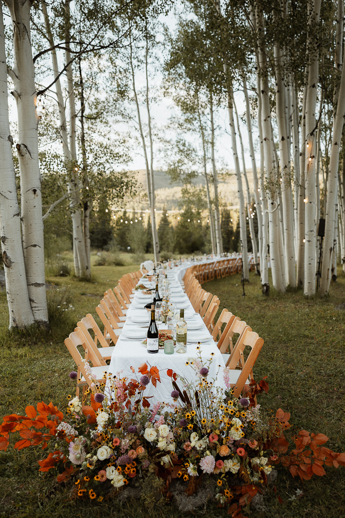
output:
[[[320,18],[321,0],[309,0],[308,11],[311,30]],[[316,44],[308,42],[308,93],[306,104],[306,140],[305,160],[305,255],[304,255],[304,294],[314,295],[316,292],[316,101],[319,82],[319,59]]]

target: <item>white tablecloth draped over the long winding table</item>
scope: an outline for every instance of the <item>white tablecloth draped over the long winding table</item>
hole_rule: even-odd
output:
[[[170,278],[170,285],[172,289],[174,289],[176,286],[179,286],[178,279],[181,278],[180,274],[182,274],[183,271],[184,275],[186,269],[189,268],[189,266],[191,266],[192,264],[195,263],[182,264],[179,267],[174,267],[173,269],[168,270],[168,277]],[[138,291],[139,293],[141,293],[140,290]],[[147,389],[145,390],[145,396],[154,396],[153,398],[149,399],[151,405],[155,404],[157,401],[172,402],[171,392],[173,390],[173,386],[171,383],[171,378],[167,376],[167,369],[173,369],[174,372],[183,376],[188,381],[192,381],[193,379],[195,379],[196,375],[194,370],[190,366],[186,365],[186,362],[188,361],[188,358],[197,357],[198,340],[196,340],[195,343],[188,343],[187,330],[187,352],[185,354],[176,353],[176,349],[174,354],[169,355],[165,354],[164,350],[159,350],[157,354],[148,353],[146,347],[143,346],[143,344],[141,343],[146,336],[147,328],[140,327],[144,324],[133,324],[130,321],[131,316],[135,318],[136,315],[145,315],[146,312],[148,322],[147,311],[143,309],[134,308],[134,306],[136,305],[141,305],[141,307],[143,308],[146,304],[146,301],[138,300],[139,296],[140,295],[137,292],[136,295],[134,295],[132,304],[128,308],[127,320],[123,327],[122,333],[125,335],[128,330],[130,331],[134,329],[142,329],[143,338],[140,340],[128,340],[124,336],[120,335],[111,357],[109,372],[111,372],[113,375],[128,377],[129,379],[131,379],[134,378],[133,372],[131,370],[131,367],[133,367],[136,370],[138,378],[140,379],[142,375],[138,373],[138,368],[142,363],[146,362],[147,365],[156,366],[159,369],[161,383],[157,383],[156,388],[152,386],[152,384],[150,383],[147,386]],[[177,307],[179,307],[178,303]],[[198,313],[194,313],[194,309],[189,299],[186,299],[186,302],[184,301],[184,303],[181,304],[181,307],[188,308],[189,312],[193,313],[193,319],[200,319],[200,322],[202,322],[201,316]],[[193,330],[192,333],[193,335],[195,335],[198,332]],[[203,327],[200,329],[200,335],[204,336],[206,333],[209,336],[209,338],[205,343],[201,343],[200,347],[202,361],[204,363],[207,362],[207,366],[209,358],[213,358],[213,361],[209,367],[208,380],[215,378],[217,372],[219,371],[217,385],[224,388],[222,370],[225,367],[225,364],[216,346],[216,343],[214,342],[212,336],[208,333],[206,326],[203,324]],[[214,353],[214,355],[211,356],[211,353]]]

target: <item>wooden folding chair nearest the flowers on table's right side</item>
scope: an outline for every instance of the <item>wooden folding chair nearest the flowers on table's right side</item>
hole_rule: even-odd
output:
[[[253,380],[253,367],[263,344],[263,339],[259,337],[258,333],[252,331],[250,327],[247,327],[240,339],[237,340],[236,346],[227,362],[227,367],[229,367],[230,372],[232,372],[232,376],[235,376],[235,373],[239,373],[237,380],[233,384],[230,378],[234,397],[238,398],[241,392],[246,394],[246,392],[249,391],[249,383]],[[245,359],[244,355],[246,347],[250,348],[247,359]],[[237,366],[240,367],[239,370],[236,369]]]

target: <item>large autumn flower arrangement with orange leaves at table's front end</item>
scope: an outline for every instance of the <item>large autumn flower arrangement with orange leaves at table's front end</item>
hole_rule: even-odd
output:
[[[65,481],[83,499],[121,496],[126,486],[135,493],[138,479],[143,491],[145,481],[154,479],[152,487],[167,499],[176,481],[185,484],[189,497],[206,483],[217,505],[236,518],[244,518],[244,508],[263,492],[273,465],[281,463],[302,480],[325,475],[323,466],[345,466],[345,453],[325,448],[323,434],[300,430],[289,443],[284,430],[290,414],[279,409],[268,418],[255,405],[255,396],[268,391],[265,379],[252,381],[247,397],[236,399],[227,368],[227,390],[207,379],[211,362],[212,357],[203,364],[201,355],[188,360],[195,371],[192,383],[146,363],[138,374],[132,368],[132,379],[106,375],[101,384],[94,380],[85,405],[78,397],[70,399],[65,416],[51,402],[27,406],[26,415],[5,416],[0,450],[8,448],[14,433],[20,436],[14,444],[18,450],[50,446],[39,471],[56,470],[58,482]],[[161,382],[161,375],[171,378],[173,403],[151,406],[144,393],[150,383]]]

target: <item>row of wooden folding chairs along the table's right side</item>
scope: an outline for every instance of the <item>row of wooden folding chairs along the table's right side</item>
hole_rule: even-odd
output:
[[[214,265],[216,270],[212,274],[213,278],[217,275],[219,263],[217,261],[216,263],[207,264],[208,275],[211,275],[212,265]],[[226,263],[226,261],[223,263]],[[189,294],[194,309],[200,312],[200,314],[205,311],[204,308],[207,308],[207,305],[211,306],[213,300],[218,300],[216,311],[212,313],[212,322],[209,323],[209,330],[212,332],[212,337],[217,343],[224,363],[230,369],[230,382],[231,378],[233,378],[234,396],[238,397],[241,393],[246,393],[249,390],[249,382],[253,380],[253,366],[257,361],[264,341],[244,320],[241,320],[227,309],[222,310],[217,322],[214,323],[213,319],[219,308],[219,299],[212,296],[212,293],[202,289],[199,282],[199,274],[200,270],[194,266],[188,268],[184,276],[185,290]],[[206,309],[207,311],[208,309]],[[237,336],[236,341],[235,336]],[[239,376],[238,370],[241,371]]]

